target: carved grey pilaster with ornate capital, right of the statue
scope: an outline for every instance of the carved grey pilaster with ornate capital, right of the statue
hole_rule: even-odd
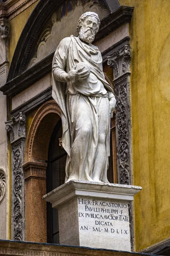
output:
[[[108,57],[113,68],[116,97],[117,173],[120,184],[131,183],[130,46]]]

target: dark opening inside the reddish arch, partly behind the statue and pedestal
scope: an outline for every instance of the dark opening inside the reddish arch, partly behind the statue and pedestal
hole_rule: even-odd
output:
[[[47,193],[65,182],[67,153],[59,146],[59,138],[62,138],[61,119],[54,128],[48,149]],[[58,212],[50,203],[47,203],[47,242],[59,244]]]

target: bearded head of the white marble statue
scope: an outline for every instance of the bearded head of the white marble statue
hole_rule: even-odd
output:
[[[86,43],[94,41],[96,33],[99,31],[100,20],[95,12],[85,12],[79,17],[77,24],[78,37]]]

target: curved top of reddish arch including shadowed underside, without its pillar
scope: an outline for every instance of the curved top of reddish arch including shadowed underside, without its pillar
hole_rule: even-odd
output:
[[[35,114],[26,139],[25,162],[47,160],[51,134],[59,119],[61,109],[54,100],[45,102]],[[42,148],[44,146],[44,148]],[[41,149],[41,151],[39,151]]]

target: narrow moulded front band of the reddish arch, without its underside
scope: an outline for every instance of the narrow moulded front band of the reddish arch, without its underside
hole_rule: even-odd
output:
[[[32,147],[33,147],[35,133],[43,117],[51,112],[57,113],[61,117],[61,109],[59,108],[59,106],[54,100],[45,102],[36,112],[31,122],[28,135],[27,135],[25,162],[29,162],[32,160]]]

